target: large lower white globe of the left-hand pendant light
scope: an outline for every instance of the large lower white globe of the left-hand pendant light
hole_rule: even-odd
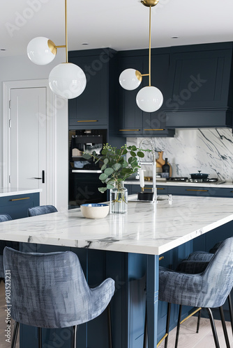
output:
[[[66,99],[78,97],[87,84],[83,70],[73,63],[61,63],[50,72],[49,85],[53,93]]]

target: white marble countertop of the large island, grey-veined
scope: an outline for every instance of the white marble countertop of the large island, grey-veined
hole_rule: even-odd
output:
[[[0,239],[160,255],[233,220],[232,198],[172,196],[128,202],[127,214],[85,219],[80,209],[0,224]]]

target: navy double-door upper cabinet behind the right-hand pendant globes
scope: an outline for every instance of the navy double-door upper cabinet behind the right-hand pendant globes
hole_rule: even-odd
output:
[[[158,87],[167,99],[167,77],[169,71],[170,48],[151,50],[151,85]],[[149,73],[149,52],[147,49],[119,52],[119,74],[128,68]],[[121,136],[173,136],[167,130],[163,106],[156,112],[143,112],[136,104],[138,91],[149,86],[149,77],[143,77],[135,90],[125,90],[119,85],[119,118]]]

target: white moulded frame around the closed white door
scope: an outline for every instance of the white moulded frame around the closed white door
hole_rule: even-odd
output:
[[[36,80],[21,80],[21,81],[3,81],[3,166],[2,177],[3,187],[10,188],[9,175],[10,175],[10,93],[11,89],[17,88],[46,88],[46,166],[47,166],[47,204],[54,204],[55,194],[55,182],[52,180],[55,178],[56,168],[56,120],[57,120],[57,108],[56,97],[47,79]],[[43,117],[43,116],[42,116]]]

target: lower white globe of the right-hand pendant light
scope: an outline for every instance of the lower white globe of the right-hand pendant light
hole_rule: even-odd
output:
[[[156,87],[146,86],[137,93],[136,102],[142,111],[154,112],[162,106],[163,94]]]

